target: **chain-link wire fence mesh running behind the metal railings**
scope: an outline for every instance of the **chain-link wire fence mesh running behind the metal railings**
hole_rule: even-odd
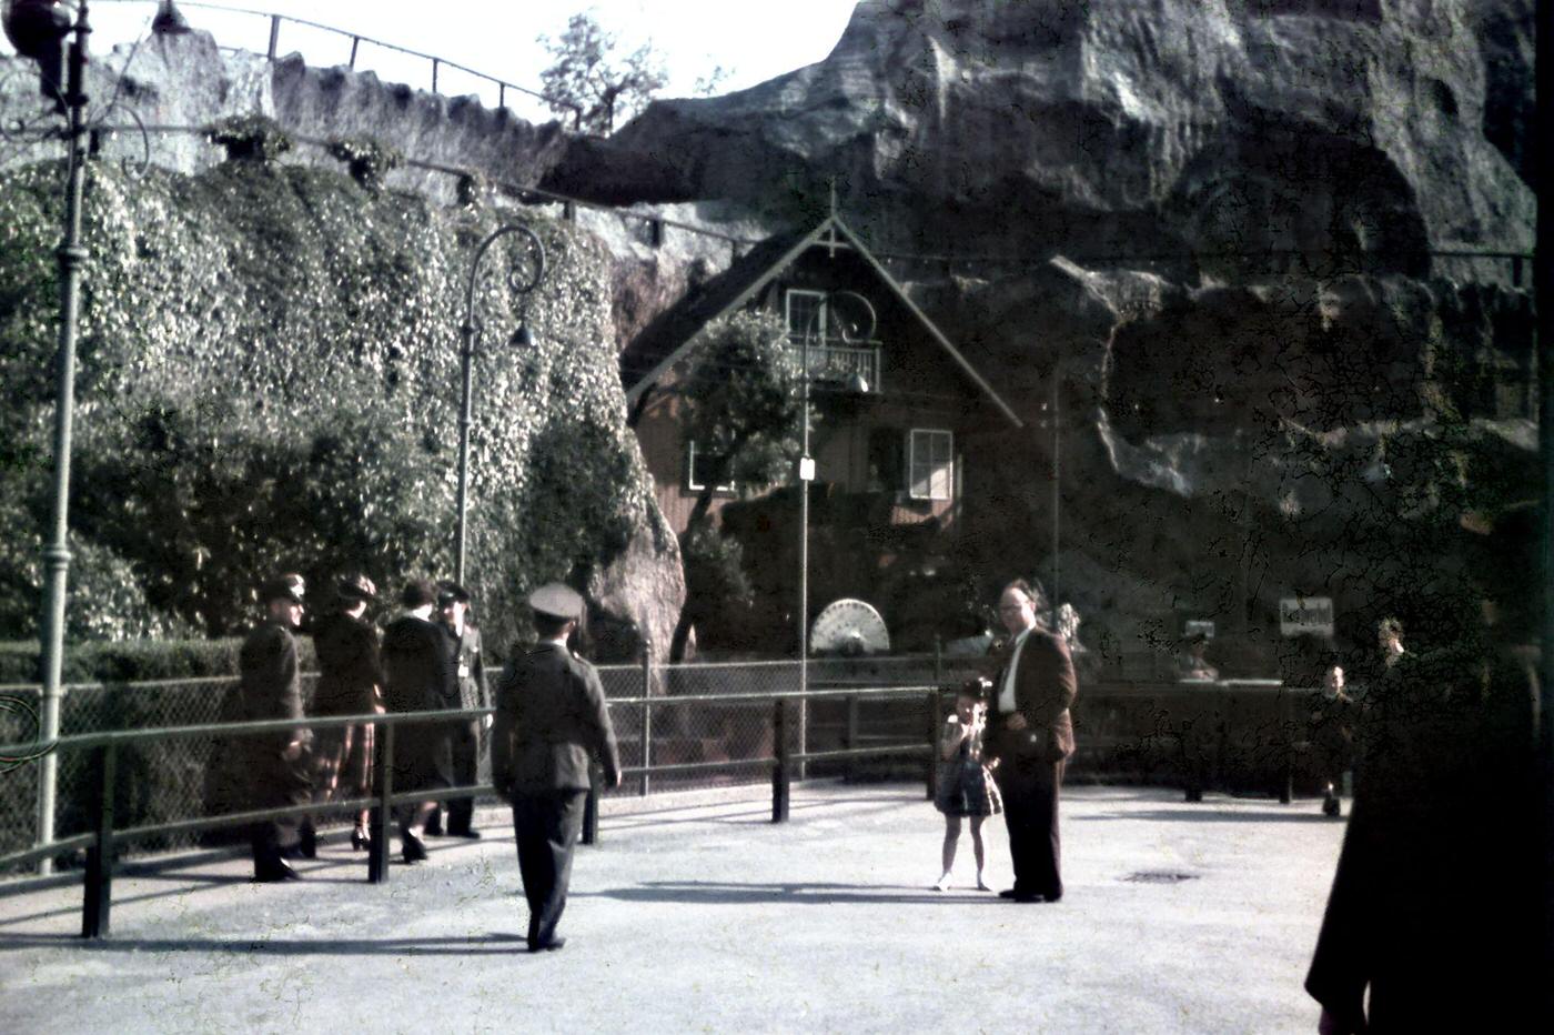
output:
[[[940,656],[825,659],[673,667],[601,667],[626,780],[611,796],[646,796],[771,780],[777,757],[775,702],[799,777],[917,779],[925,744],[951,707],[948,690],[982,671],[985,659]],[[305,676],[305,699],[314,676]],[[807,684],[808,695],[796,696]],[[61,734],[145,730],[221,723],[236,681],[177,679],[65,687]],[[881,693],[886,688],[911,688]],[[1277,789],[1291,779],[1305,695],[1274,685],[1102,684],[1074,709],[1078,755],[1071,779]],[[0,687],[0,743],[36,737],[37,687]],[[126,744],[120,752],[115,825],[140,827],[241,808],[232,774],[218,761],[227,738],[180,737]],[[869,749],[858,758],[810,758]],[[901,749],[901,751],[895,751]],[[485,752],[483,752],[485,754]],[[1298,758],[1294,761],[1299,761]],[[61,749],[56,838],[85,833],[95,793],[92,755]],[[39,766],[0,763],[0,855],[33,844]],[[1299,779],[1301,772],[1294,777]],[[480,780],[490,780],[482,760]],[[343,817],[342,817],[343,822]],[[230,841],[228,831],[137,841],[127,855]]]

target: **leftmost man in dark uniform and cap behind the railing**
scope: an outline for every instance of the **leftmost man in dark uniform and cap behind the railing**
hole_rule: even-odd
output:
[[[300,575],[280,575],[260,587],[266,617],[249,632],[238,653],[239,723],[303,718],[294,636],[301,623],[303,592]],[[238,738],[236,752],[244,760],[242,771],[249,780],[249,808],[284,808],[311,800],[306,744],[308,730],[300,726]],[[300,852],[301,825],[295,819],[256,822],[249,838],[253,845],[255,881],[298,878],[284,859],[286,853]]]

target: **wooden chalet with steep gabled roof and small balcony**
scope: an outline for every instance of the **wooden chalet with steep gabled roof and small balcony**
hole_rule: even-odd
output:
[[[622,354],[631,424],[674,531],[685,530],[709,477],[676,382],[698,331],[740,309],[782,315],[793,347],[808,347],[813,396],[848,396],[811,438],[811,499],[821,508],[811,518],[834,514],[876,538],[912,527],[960,531],[967,469],[977,463],[971,443],[1021,421],[834,213],[763,241]],[[732,485],[718,486],[713,510],[735,497]]]

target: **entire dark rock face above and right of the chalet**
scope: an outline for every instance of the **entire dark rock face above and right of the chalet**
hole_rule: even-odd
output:
[[[1531,264],[1448,255],[1531,252],[1531,22],[875,0],[825,61],[657,103],[544,183],[797,221],[834,182],[1033,429],[967,458],[985,580],[1051,577],[1061,522],[1063,597],[1106,643],[1173,615],[1268,637],[1296,594],[1363,643],[1445,606],[1405,558],[1534,471]],[[1061,514],[1032,474],[1054,441]]]

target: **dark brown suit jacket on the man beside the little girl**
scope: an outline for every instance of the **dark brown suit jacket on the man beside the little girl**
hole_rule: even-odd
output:
[[[1015,670],[1015,709],[1026,716],[1026,729],[1013,730],[998,713],[1004,673],[1015,651],[1015,637],[995,648],[998,671],[988,707],[988,758],[1032,758],[1061,761],[1074,754],[1074,718],[1069,706],[1078,696],[1074,660],[1068,645],[1052,632],[1035,628],[1026,636]]]

